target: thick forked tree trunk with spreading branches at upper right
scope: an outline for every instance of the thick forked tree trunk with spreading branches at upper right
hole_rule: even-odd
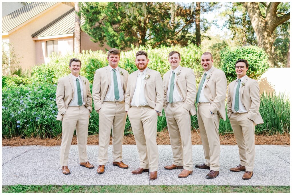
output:
[[[271,67],[274,67],[272,51],[274,43],[273,32],[277,26],[290,19],[290,12],[283,13],[277,11],[280,2],[260,3],[265,6],[264,14],[261,13],[259,2],[242,2],[242,5],[248,12],[251,24],[257,35],[258,46],[262,47],[269,54],[269,64]]]

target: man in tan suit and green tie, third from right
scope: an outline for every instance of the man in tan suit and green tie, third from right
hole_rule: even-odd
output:
[[[178,175],[185,178],[193,173],[191,116],[196,115],[196,76],[190,68],[180,66],[180,53],[171,51],[168,62],[171,70],[163,76],[164,112],[173,152],[173,164],[164,169],[183,169]]]

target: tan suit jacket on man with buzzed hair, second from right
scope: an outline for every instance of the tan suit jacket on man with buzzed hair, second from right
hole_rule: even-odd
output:
[[[225,73],[214,67],[209,75],[210,78],[204,83],[204,95],[211,103],[211,112],[219,114],[220,118],[226,120],[225,99],[227,92],[227,80]],[[200,83],[202,82],[202,79]],[[199,84],[200,85],[200,84]]]

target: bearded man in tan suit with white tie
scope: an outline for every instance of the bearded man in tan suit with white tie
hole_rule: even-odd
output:
[[[162,116],[163,83],[159,72],[147,68],[147,57],[145,51],[136,53],[138,70],[129,75],[125,110],[140,156],[140,167],[132,173],[141,174],[150,169],[150,180],[154,180],[158,169],[157,115]]]

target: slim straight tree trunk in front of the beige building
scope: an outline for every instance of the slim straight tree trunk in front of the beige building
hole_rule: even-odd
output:
[[[74,53],[81,53],[81,27],[79,11],[79,2],[75,2],[75,28],[74,28]]]

